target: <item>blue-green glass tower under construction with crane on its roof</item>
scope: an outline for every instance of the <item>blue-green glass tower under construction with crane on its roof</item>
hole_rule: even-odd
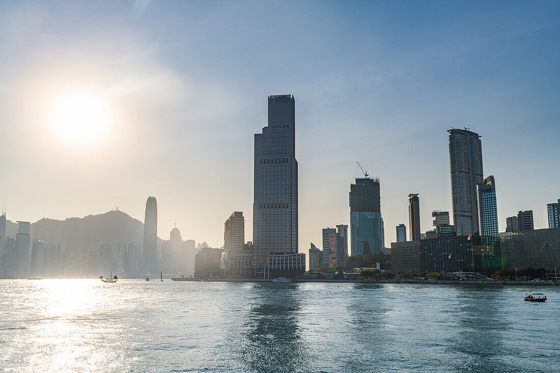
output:
[[[377,254],[384,246],[379,178],[357,178],[350,185],[350,252]]]

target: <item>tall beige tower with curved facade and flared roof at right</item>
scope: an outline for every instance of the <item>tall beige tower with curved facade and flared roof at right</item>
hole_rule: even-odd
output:
[[[458,235],[478,233],[477,184],[483,181],[480,136],[467,129],[447,132],[453,223]]]

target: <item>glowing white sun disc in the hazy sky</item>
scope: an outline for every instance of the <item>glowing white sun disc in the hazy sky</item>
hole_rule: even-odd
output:
[[[60,135],[71,142],[99,140],[109,130],[110,115],[102,99],[90,94],[69,94],[53,105],[53,122]]]

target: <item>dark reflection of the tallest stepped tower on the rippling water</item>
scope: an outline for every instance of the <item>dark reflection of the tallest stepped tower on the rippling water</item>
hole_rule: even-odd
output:
[[[307,366],[306,344],[298,326],[301,305],[297,284],[255,285],[240,355],[258,372],[293,372]]]

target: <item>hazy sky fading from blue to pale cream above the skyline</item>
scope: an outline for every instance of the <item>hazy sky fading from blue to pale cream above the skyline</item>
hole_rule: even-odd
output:
[[[500,231],[525,209],[548,227],[558,20],[553,1],[1,2],[0,203],[12,221],[116,207],[143,221],[153,195],[164,239],[176,222],[221,247],[242,211],[249,241],[253,136],[267,96],[292,94],[300,251],[349,224],[356,161],[380,178],[386,245],[408,227],[409,193],[431,229],[431,212],[451,208],[451,127],[482,135]],[[75,96],[102,118],[64,101]],[[78,136],[76,115],[103,130]]]

